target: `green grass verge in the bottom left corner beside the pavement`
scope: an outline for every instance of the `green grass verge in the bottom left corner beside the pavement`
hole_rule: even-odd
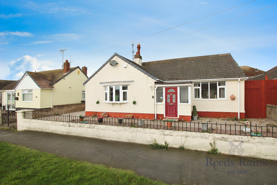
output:
[[[0,184],[164,184],[130,170],[60,158],[3,141],[0,172]]]

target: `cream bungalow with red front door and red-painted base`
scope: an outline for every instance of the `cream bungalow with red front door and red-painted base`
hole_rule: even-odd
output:
[[[85,82],[86,115],[190,121],[200,117],[244,118],[246,76],[231,54],[134,62],[115,53]]]

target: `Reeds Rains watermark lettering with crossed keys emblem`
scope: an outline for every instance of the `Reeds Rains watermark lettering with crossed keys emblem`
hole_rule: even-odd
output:
[[[232,141],[229,142],[231,148],[229,149],[229,153],[233,155],[238,152],[239,155],[243,154],[244,149],[242,149],[243,142],[240,141],[237,145]],[[212,158],[206,158],[206,166],[234,166],[234,160],[230,160],[227,158],[226,160],[212,160]],[[245,160],[245,158],[241,157],[238,166],[266,166],[266,160]]]

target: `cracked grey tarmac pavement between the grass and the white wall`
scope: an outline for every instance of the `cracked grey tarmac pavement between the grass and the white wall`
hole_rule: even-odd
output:
[[[155,150],[149,145],[38,131],[2,129],[0,141],[73,160],[133,170],[139,176],[169,184],[276,185],[277,182],[277,161],[186,149]]]

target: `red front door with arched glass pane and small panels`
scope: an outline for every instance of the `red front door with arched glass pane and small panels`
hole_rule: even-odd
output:
[[[178,117],[177,87],[165,88],[165,117]]]

